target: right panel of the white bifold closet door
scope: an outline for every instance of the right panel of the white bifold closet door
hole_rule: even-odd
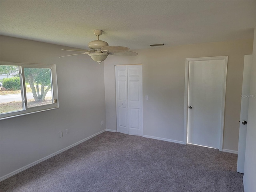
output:
[[[142,135],[142,65],[128,65],[128,133]]]

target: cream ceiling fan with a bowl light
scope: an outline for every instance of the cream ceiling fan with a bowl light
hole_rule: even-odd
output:
[[[83,53],[72,54],[72,55],[88,54],[94,61],[98,63],[101,63],[102,61],[104,61],[108,55],[117,55],[117,56],[138,55],[138,53],[136,52],[129,51],[130,49],[128,47],[108,46],[107,42],[99,40],[99,36],[102,35],[102,32],[103,31],[99,29],[94,30],[94,34],[98,37],[98,39],[88,43],[88,47],[91,50],[84,50],[84,49],[62,49],[62,50],[83,52]],[[61,57],[72,56],[72,55],[65,55]]]

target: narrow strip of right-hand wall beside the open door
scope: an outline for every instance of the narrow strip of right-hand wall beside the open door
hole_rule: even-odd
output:
[[[250,95],[256,95],[256,27],[254,28]],[[249,99],[243,181],[245,192],[256,191],[256,98],[254,97]]]

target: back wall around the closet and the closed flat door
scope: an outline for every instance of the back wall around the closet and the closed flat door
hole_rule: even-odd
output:
[[[143,134],[183,142],[185,59],[228,55],[223,148],[237,151],[244,55],[253,40],[136,50],[138,56],[108,56],[104,62],[106,128],[116,130],[114,65],[143,66]],[[148,100],[145,100],[148,95]]]

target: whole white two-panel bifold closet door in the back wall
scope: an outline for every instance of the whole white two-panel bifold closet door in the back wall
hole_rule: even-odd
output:
[[[116,66],[117,131],[142,135],[142,65]]]

